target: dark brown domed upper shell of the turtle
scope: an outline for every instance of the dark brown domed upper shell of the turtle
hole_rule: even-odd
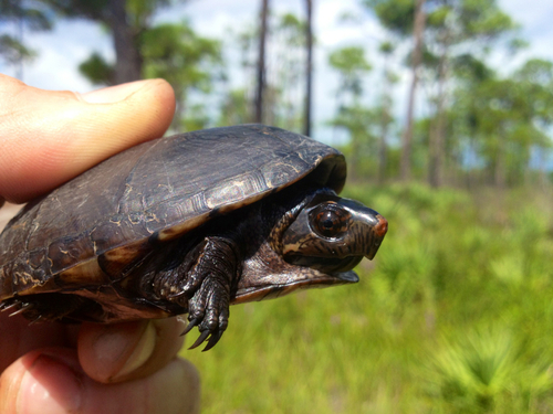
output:
[[[263,125],[192,131],[121,152],[28,204],[0,235],[0,300],[100,286],[154,243],[300,180],[340,192],[342,153]]]

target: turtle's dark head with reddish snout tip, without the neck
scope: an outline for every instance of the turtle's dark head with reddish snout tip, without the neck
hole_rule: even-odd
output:
[[[373,259],[387,227],[386,219],[362,203],[320,193],[282,233],[281,252],[290,264],[341,274],[363,257]]]

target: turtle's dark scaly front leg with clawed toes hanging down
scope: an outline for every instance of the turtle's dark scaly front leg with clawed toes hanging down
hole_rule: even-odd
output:
[[[240,273],[239,252],[231,238],[205,237],[179,266],[184,284],[181,282],[177,289],[164,289],[165,295],[161,295],[166,299],[188,308],[189,325],[182,335],[195,326],[200,331],[190,349],[201,344],[208,337],[204,351],[211,349],[227,329],[230,296]]]

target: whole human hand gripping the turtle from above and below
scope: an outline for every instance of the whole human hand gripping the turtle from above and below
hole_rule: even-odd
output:
[[[160,137],[175,97],[164,81],[88,94],[0,74],[0,205],[48,192],[105,158]],[[197,413],[199,378],[177,358],[177,318],[34,323],[0,315],[0,412]]]

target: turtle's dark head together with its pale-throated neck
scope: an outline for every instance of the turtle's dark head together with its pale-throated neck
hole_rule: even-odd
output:
[[[244,264],[234,304],[356,283],[352,269],[363,257],[375,256],[386,219],[330,189],[303,195],[272,229],[270,252],[261,250]]]

